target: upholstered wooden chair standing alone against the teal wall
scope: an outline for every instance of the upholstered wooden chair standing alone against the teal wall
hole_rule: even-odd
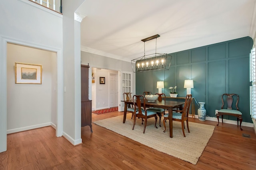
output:
[[[216,117],[218,119],[218,124],[217,126],[219,126],[219,116],[221,115],[221,119],[222,119],[222,123],[223,123],[223,115],[230,115],[230,116],[236,116],[236,120],[237,120],[237,125],[238,125],[238,119],[240,120],[240,130],[243,130],[241,128],[241,124],[242,124],[242,112],[239,111],[238,108],[238,102],[239,102],[239,96],[238,94],[222,94],[221,95],[221,101],[222,101],[222,106],[221,109],[218,110],[218,113],[216,114]],[[233,105],[233,101],[235,102],[235,105]],[[236,108],[233,109],[232,108]],[[226,108],[226,109],[225,109]]]

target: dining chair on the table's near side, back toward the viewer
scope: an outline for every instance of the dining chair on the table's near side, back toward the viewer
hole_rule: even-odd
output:
[[[135,126],[135,123],[136,123],[136,118],[144,118],[145,119],[145,125],[144,125],[144,130],[143,130],[143,133],[145,133],[145,130],[146,130],[146,126],[147,126],[147,120],[148,118],[152,118],[152,117],[155,117],[155,120],[157,121],[157,116],[156,116],[156,112],[154,111],[151,111],[151,110],[147,110],[146,109],[146,100],[145,100],[145,97],[143,95],[134,95],[132,97],[132,100],[133,100],[133,104],[136,108],[136,112],[134,112],[133,116],[133,126],[132,126],[132,130],[134,130],[134,126]],[[142,101],[143,100],[143,103]],[[143,121],[142,121],[142,124],[143,124]],[[157,128],[156,126],[156,122],[155,122],[155,127]]]

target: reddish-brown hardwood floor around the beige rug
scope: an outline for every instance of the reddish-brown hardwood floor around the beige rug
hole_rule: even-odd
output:
[[[92,114],[92,121],[122,114]],[[216,126],[217,122],[189,120],[215,126],[196,165],[92,124],[93,133],[89,126],[82,127],[83,144],[78,146],[72,146],[63,137],[57,138],[50,126],[8,134],[7,151],[0,153],[0,170],[256,169],[256,135],[252,128],[243,126],[241,131],[232,124]],[[249,134],[250,138],[242,134]]]

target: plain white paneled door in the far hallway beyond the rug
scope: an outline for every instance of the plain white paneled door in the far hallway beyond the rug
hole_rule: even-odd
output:
[[[110,74],[109,107],[118,106],[118,74]]]

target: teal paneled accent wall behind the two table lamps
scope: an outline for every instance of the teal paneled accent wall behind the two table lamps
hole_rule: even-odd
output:
[[[221,109],[221,95],[235,93],[240,97],[238,107],[243,122],[252,123],[250,116],[250,37],[238,38],[190,50],[172,53],[169,70],[136,73],[136,94],[144,91],[158,93],[156,82],[164,81],[162,92],[170,96],[169,87],[177,86],[178,96],[186,96],[184,80],[194,80],[192,96],[205,102],[207,116],[216,117]],[[195,114],[199,106],[195,104]],[[236,117],[224,115],[224,119]]]

